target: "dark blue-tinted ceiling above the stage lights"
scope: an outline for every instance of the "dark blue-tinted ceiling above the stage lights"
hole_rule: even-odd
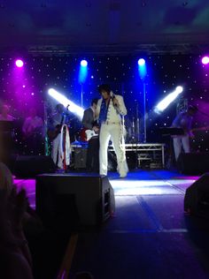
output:
[[[209,51],[208,0],[0,0],[0,52]]]

